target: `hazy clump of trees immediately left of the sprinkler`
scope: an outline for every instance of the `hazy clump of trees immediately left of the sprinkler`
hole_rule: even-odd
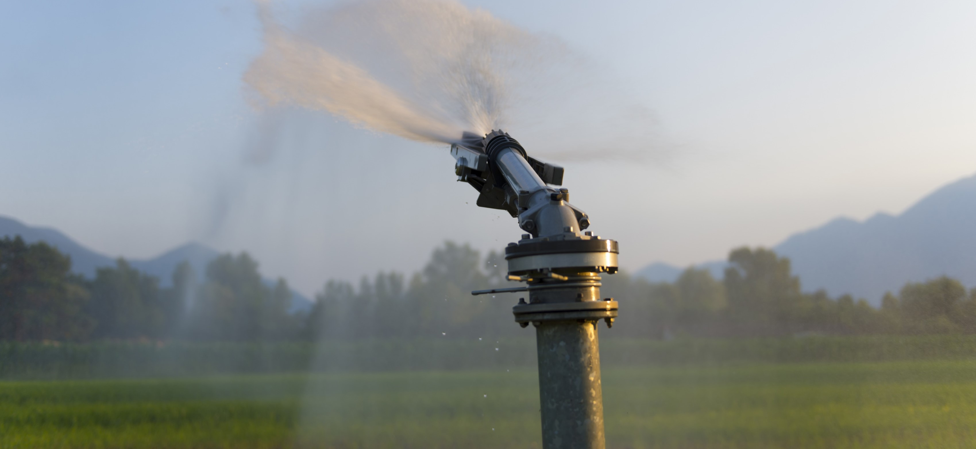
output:
[[[499,259],[482,259],[467,244],[446,242],[409,282],[396,273],[363,278],[357,287],[328,281],[315,295],[305,338],[483,338],[521,331],[511,320],[517,297],[470,294],[504,282]]]

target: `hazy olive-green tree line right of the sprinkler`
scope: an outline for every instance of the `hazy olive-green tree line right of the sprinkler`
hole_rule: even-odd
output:
[[[668,338],[785,336],[804,334],[976,333],[976,288],[967,291],[941,277],[906,283],[885,293],[879,308],[864,298],[825,291],[803,292],[790,259],[764,248],[730,252],[721,281],[711,272],[686,269],[677,281],[648,282],[604,277],[604,288],[623,298],[624,319],[640,326],[621,329],[630,336]]]

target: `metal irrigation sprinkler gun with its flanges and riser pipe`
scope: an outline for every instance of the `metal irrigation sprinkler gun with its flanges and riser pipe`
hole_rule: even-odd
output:
[[[466,132],[451,145],[455,172],[479,192],[477,206],[507,210],[527,234],[508,243],[508,280],[525,285],[471,294],[527,291],[512,308],[536,328],[545,449],[603,449],[603,393],[596,325],[617,318],[600,297],[600,273],[617,272],[617,242],[583,230],[586,212],[569,204],[563,169],[529,157],[504,131]]]

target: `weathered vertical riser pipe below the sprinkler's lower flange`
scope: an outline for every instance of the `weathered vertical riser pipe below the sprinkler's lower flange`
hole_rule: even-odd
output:
[[[604,449],[595,322],[540,322],[536,345],[543,449]]]

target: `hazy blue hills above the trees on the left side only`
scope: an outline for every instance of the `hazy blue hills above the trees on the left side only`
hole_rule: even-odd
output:
[[[0,216],[0,238],[20,236],[27,243],[46,242],[71,256],[71,271],[86,278],[95,277],[96,269],[115,265],[115,259],[89,249],[53,228],[27,226],[13,218]],[[221,253],[200,243],[186,243],[146,260],[126,259],[137,270],[159,278],[162,286],[172,284],[173,270],[181,262],[188,261],[197,274],[204,279],[207,264]],[[264,280],[266,285],[274,285],[275,280]],[[291,312],[308,311],[311,301],[301,293],[292,290]]]

